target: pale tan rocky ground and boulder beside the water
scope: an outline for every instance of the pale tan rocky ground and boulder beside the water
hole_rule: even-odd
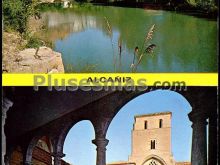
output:
[[[3,32],[3,73],[64,73],[60,53],[48,47],[24,49],[25,44],[18,34]]]

